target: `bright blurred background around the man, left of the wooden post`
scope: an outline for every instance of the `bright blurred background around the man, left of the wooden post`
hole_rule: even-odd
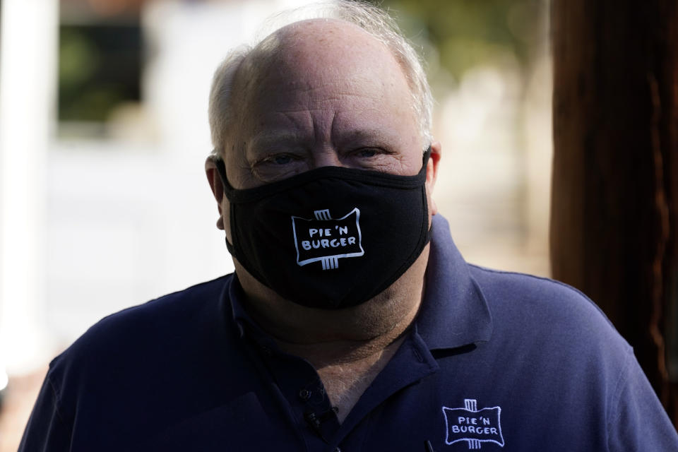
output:
[[[1,452],[88,326],[232,271],[203,171],[211,76],[304,3],[0,0]],[[460,250],[549,275],[548,2],[380,3],[427,61]]]

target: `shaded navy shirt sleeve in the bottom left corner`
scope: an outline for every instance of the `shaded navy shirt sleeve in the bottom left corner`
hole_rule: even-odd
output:
[[[49,373],[23,432],[18,452],[61,452],[71,449],[71,426],[59,412],[59,393]]]

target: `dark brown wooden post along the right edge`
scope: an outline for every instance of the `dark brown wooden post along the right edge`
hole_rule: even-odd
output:
[[[551,13],[553,275],[606,312],[678,425],[678,2]]]

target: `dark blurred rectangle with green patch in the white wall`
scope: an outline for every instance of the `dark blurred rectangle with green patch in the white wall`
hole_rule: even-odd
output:
[[[59,121],[105,121],[140,99],[140,84],[138,25],[61,25]]]

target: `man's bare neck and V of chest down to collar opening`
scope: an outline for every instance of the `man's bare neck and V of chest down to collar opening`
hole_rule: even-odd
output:
[[[391,286],[346,309],[314,309],[283,299],[234,259],[247,310],[280,349],[307,359],[320,376],[343,422],[388,364],[417,316],[424,292],[429,247]]]

